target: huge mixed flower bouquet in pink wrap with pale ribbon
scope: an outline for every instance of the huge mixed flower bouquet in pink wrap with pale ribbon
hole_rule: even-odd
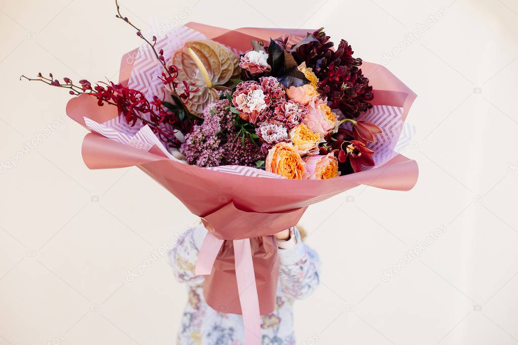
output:
[[[76,96],[66,111],[91,131],[89,168],[137,166],[211,225],[196,265],[204,296],[243,314],[246,342],[258,344],[259,316],[275,304],[272,235],[358,185],[415,184],[416,163],[398,154],[415,94],[322,28],[188,23],[148,37],[116,5],[143,40],[123,56],[118,82],[21,79]]]

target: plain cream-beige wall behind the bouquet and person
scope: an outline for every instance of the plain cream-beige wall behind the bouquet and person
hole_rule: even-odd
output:
[[[518,343],[516,1],[121,3],[142,27],[175,16],[325,26],[419,94],[406,152],[420,164],[418,185],[358,187],[303,218],[323,268],[318,292],[295,307],[299,343]],[[133,281],[126,271],[196,218],[137,169],[85,168],[85,130],[66,117],[66,91],[18,81],[39,71],[116,78],[140,42],[114,11],[108,0],[0,0],[0,162],[17,161],[0,174],[0,345],[174,343],[184,287],[165,259]],[[405,42],[414,30],[420,39]],[[383,281],[441,226],[421,258]]]

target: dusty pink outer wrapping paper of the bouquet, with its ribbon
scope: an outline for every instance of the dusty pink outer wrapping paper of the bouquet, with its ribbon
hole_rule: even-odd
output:
[[[295,42],[312,32],[264,28],[229,31],[199,23],[189,23],[186,27],[191,33],[225,44],[234,52],[249,50],[252,38],[267,41],[270,37],[290,35]],[[125,85],[134,69],[135,59],[129,57],[136,53],[134,50],[123,57],[120,82]],[[83,140],[82,156],[90,169],[137,166],[193,214],[211,224],[215,231],[205,239],[195,273],[207,275],[204,295],[213,309],[243,314],[248,345],[261,342],[259,314],[270,313],[275,308],[279,259],[272,235],[295,226],[307,206],[356,186],[404,191],[416,183],[416,162],[392,152],[416,95],[383,66],[364,62],[362,70],[373,86],[372,104],[400,108],[399,122],[384,147],[392,153],[391,158],[362,172],[327,180],[263,178],[250,176],[251,168],[247,175],[239,174],[243,167],[229,167],[233,169],[229,174],[225,170],[190,166],[167,157],[157,145],[141,149],[97,133],[89,133]],[[115,107],[98,107],[96,99],[87,95],[71,99],[66,111],[85,127],[84,117],[102,124],[119,115]]]

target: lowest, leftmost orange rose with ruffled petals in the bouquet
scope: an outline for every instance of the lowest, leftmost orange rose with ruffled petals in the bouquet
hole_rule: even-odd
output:
[[[291,179],[302,179],[306,163],[291,143],[278,143],[268,150],[266,171]]]

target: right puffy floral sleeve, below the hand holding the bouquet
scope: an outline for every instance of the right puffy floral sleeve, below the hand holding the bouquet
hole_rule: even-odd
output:
[[[297,244],[290,249],[279,249],[280,285],[287,296],[302,299],[309,296],[320,283],[318,254],[300,240],[295,229]]]

